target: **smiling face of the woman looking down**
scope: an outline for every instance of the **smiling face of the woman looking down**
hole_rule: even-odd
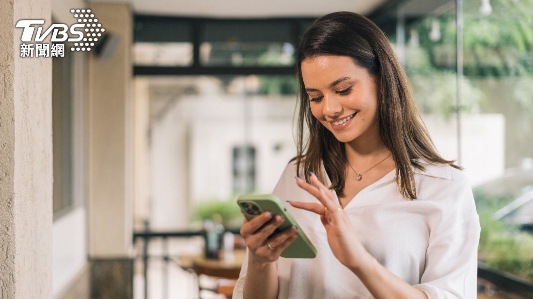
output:
[[[320,55],[301,70],[311,113],[340,142],[378,136],[377,85],[365,68],[349,56]]]

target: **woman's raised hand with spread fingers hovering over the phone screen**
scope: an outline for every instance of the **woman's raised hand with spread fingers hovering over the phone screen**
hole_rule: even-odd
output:
[[[368,252],[362,246],[348,215],[340,207],[335,196],[318,180],[314,173],[311,184],[297,178],[296,185],[316,197],[320,203],[290,201],[290,205],[320,215],[327,232],[329,247],[336,258],[350,269],[360,268],[366,262]]]

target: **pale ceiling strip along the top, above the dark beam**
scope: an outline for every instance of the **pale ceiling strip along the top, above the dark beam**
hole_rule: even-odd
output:
[[[205,16],[215,18],[271,18],[320,16],[336,11],[368,14],[384,0],[90,0],[90,2],[130,3],[136,14]]]

